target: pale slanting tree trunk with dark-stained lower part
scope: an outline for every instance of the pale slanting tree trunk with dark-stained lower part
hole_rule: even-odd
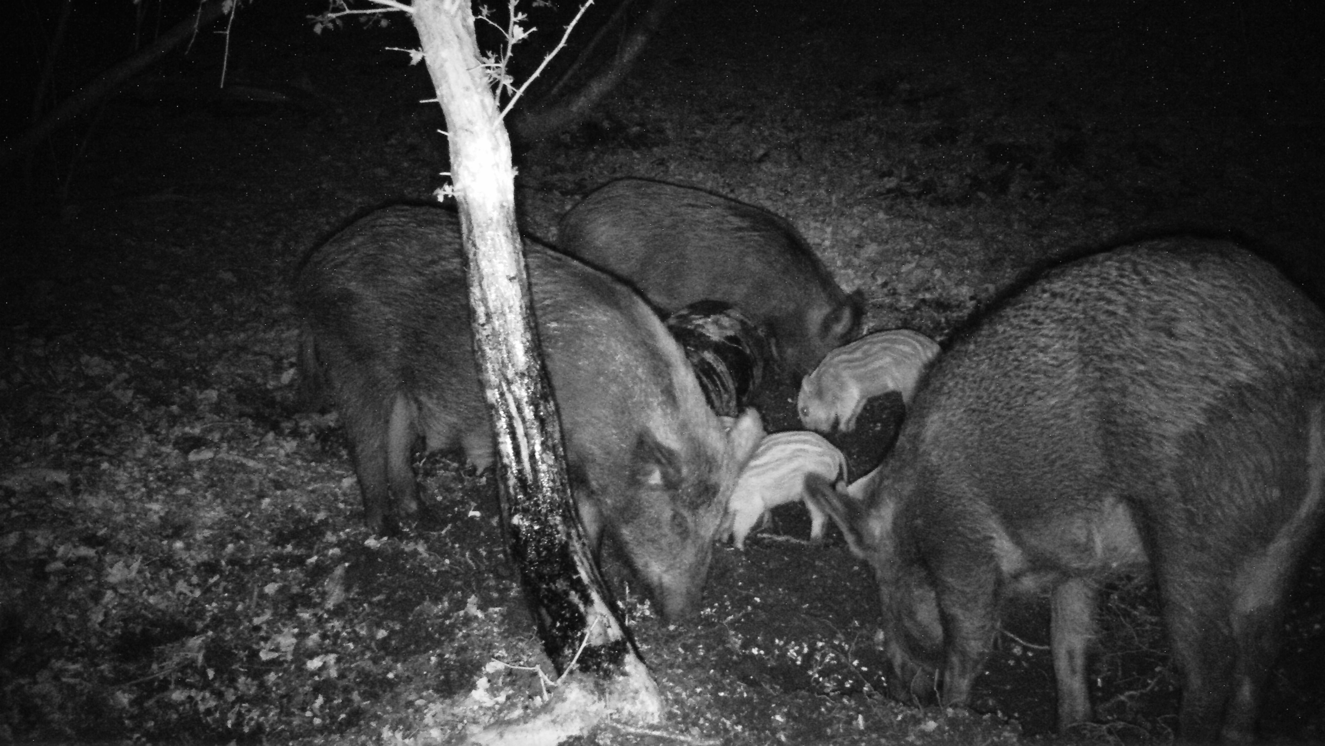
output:
[[[562,709],[550,708],[538,722],[507,724],[492,737],[555,743],[608,712],[656,721],[657,686],[604,598],[571,501],[559,419],[530,315],[510,140],[481,67],[469,0],[416,0],[413,21],[447,116],[510,554],[558,671],[570,667],[583,644],[580,668],[613,679],[606,689],[563,685],[556,694]]]

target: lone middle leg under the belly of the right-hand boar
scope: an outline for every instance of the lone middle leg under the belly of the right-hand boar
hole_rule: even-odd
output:
[[[1086,648],[1094,636],[1096,594],[1089,581],[1071,578],[1053,589],[1049,611],[1053,677],[1059,685],[1059,731],[1090,720]]]

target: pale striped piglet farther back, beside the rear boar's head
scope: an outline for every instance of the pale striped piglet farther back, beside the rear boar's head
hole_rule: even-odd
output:
[[[909,405],[921,373],[935,356],[938,344],[910,329],[874,332],[839,347],[800,382],[800,423],[820,433],[831,433],[836,425],[847,433],[856,427],[856,417],[871,397],[898,392]]]

